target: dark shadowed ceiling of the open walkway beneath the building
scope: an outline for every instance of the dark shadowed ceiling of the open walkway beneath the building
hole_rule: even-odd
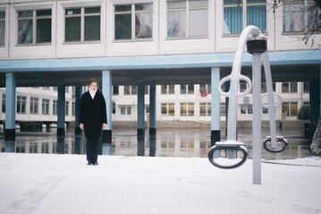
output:
[[[221,78],[231,73],[232,67],[221,67]],[[243,66],[241,73],[251,78],[251,67]],[[275,82],[310,81],[319,79],[319,64],[275,65],[272,76]],[[21,71],[15,72],[17,86],[86,86],[89,78],[101,81],[101,70]],[[112,70],[114,86],[165,84],[209,84],[211,68]],[[5,86],[5,73],[0,73],[0,87]],[[262,68],[262,80],[264,81]]]

